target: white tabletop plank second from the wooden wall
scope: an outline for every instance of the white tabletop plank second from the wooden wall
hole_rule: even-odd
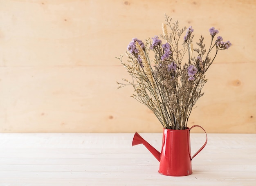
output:
[[[160,147],[160,146],[159,146]],[[199,148],[191,147],[192,154],[195,154]],[[139,149],[139,150],[138,150]],[[69,150],[70,153],[66,151]],[[76,150],[73,148],[67,149],[44,149],[44,148],[33,148],[33,149],[22,149],[19,151],[18,156],[16,155],[17,149],[8,149],[8,153],[1,153],[3,158],[85,158],[85,159],[116,159],[118,157],[123,157],[125,159],[132,159],[140,157],[142,159],[147,158],[150,161],[155,161],[154,157],[150,154],[150,152],[143,146],[140,148],[133,148],[129,150],[122,149],[122,152],[115,149],[105,149],[104,151],[98,149],[86,149],[86,150]],[[36,151],[36,152],[34,152]],[[137,152],[139,151],[139,152]],[[193,152],[194,151],[194,152]],[[253,159],[255,156],[254,149],[242,149],[239,154],[236,154],[237,149],[228,149],[228,150],[219,150],[213,151],[204,149],[204,154],[197,155],[196,158],[199,159],[243,159],[244,157]],[[232,157],[229,157],[230,153],[234,153]],[[114,155],[113,155],[114,154]]]

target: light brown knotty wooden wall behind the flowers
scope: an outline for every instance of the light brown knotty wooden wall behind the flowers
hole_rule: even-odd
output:
[[[255,10],[254,0],[0,0],[0,132],[161,132],[132,89],[116,89],[128,74],[115,57],[161,34],[166,13],[195,39],[216,27],[232,43],[189,126],[256,133]]]

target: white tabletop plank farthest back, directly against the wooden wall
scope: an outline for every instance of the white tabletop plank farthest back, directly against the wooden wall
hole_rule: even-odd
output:
[[[152,146],[161,146],[162,133],[140,133],[140,135]],[[56,148],[141,149],[140,146],[131,146],[133,136],[134,133],[0,133],[0,147],[7,149],[49,148],[53,150]],[[207,136],[207,146],[211,146],[211,149],[214,150],[256,148],[256,143],[254,143],[256,134],[220,135],[210,133]],[[192,146],[202,145],[205,134],[192,133],[190,139]]]

